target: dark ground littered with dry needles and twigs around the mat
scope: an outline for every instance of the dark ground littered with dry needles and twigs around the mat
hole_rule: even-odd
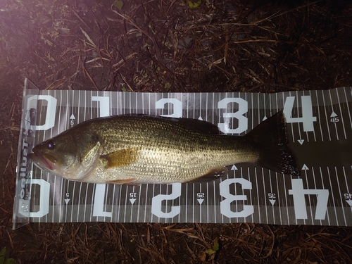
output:
[[[0,263],[352,263],[352,228],[32,223],[12,230],[23,80],[40,89],[352,85],[349,1],[0,1]],[[1,255],[1,254],[0,254]]]

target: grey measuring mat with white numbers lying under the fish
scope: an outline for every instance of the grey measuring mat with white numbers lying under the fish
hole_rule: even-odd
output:
[[[39,91],[29,89],[29,83],[23,97],[14,228],[27,222],[98,221],[352,225],[352,87],[164,94]],[[279,110],[287,118],[299,177],[239,163],[213,182],[87,184],[50,175],[27,160],[35,144],[102,116],[194,118],[212,122],[224,133],[244,135]]]

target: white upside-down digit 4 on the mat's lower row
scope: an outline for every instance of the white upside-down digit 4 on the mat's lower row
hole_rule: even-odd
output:
[[[289,194],[294,196],[294,213],[296,219],[308,219],[305,195],[317,195],[317,206],[315,210],[315,219],[324,220],[327,212],[327,200],[329,199],[329,190],[327,189],[303,189],[302,179],[292,179],[292,189]]]

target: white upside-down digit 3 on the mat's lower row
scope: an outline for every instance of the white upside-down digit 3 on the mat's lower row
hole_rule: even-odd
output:
[[[233,212],[231,210],[231,203],[233,201],[247,201],[246,195],[233,195],[230,194],[230,184],[239,183],[242,185],[242,189],[252,189],[252,183],[243,178],[227,179],[220,182],[220,195],[225,199],[220,202],[220,213],[225,215],[227,218],[246,218],[247,216],[254,213],[254,207],[244,205],[243,210],[240,212]]]

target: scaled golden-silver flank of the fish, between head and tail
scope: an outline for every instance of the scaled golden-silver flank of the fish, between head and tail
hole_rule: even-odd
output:
[[[121,175],[124,179],[137,177],[137,182],[185,182],[194,180],[206,174],[211,168],[218,168],[249,158],[234,158],[241,149],[241,137],[218,136],[202,134],[187,127],[182,127],[161,118],[142,118],[127,116],[118,119],[118,122],[103,120],[103,127],[108,127],[106,133],[101,134],[108,149],[139,147],[139,157],[136,163],[124,168],[104,170],[101,167],[101,179],[111,179],[113,175]],[[118,131],[114,128],[119,127]],[[123,129],[121,128],[123,127]],[[123,131],[123,132],[122,132]],[[145,133],[145,134],[144,134]],[[144,137],[135,135],[144,134]],[[230,139],[234,139],[230,147]],[[133,143],[132,143],[133,142]],[[212,144],[213,143],[213,144]],[[248,146],[244,146],[248,148]],[[190,161],[194,162],[191,164]],[[151,164],[151,165],[149,165]]]

